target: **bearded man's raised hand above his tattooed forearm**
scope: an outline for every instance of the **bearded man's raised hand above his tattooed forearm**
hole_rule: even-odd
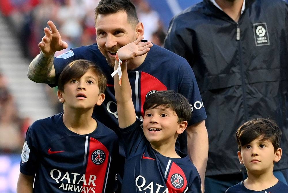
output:
[[[38,43],[38,46],[46,56],[54,56],[56,51],[67,48],[68,44],[62,41],[61,35],[52,21],[49,20],[47,24],[50,29],[48,27],[44,28],[45,36]]]

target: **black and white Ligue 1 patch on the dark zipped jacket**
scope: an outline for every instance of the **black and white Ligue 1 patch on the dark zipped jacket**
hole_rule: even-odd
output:
[[[253,26],[256,46],[270,45],[266,23],[254,23]]]

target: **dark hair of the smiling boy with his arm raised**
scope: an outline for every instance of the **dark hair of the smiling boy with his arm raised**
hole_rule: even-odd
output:
[[[175,111],[178,116],[178,123],[189,121],[191,118],[192,113],[188,100],[173,90],[164,90],[147,95],[143,110],[145,112],[147,109],[154,109],[159,106]]]

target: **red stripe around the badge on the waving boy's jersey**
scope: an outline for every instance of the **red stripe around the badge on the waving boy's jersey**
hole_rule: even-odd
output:
[[[179,174],[183,178],[183,186],[181,188],[176,188],[175,186],[172,185],[172,176],[175,174]],[[169,193],[182,193],[185,191],[187,188],[187,179],[186,176],[183,172],[183,170],[174,162],[172,162],[168,177],[167,177],[167,182],[166,186],[168,188]]]

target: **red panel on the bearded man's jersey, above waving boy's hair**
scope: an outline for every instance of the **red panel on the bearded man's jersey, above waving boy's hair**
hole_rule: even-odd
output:
[[[146,95],[153,90],[156,91],[161,91],[161,90],[167,90],[167,87],[160,82],[156,77],[145,73],[141,72],[141,80],[140,80],[141,86],[141,114],[144,117],[144,111],[143,111],[143,104],[146,99]]]

